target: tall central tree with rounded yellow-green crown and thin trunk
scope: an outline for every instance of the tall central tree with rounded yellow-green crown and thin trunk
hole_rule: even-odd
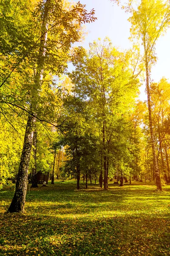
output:
[[[80,49],[79,58],[74,61],[75,71],[69,74],[75,84],[75,96],[87,102],[89,109],[93,110],[91,115],[100,134],[105,189],[108,188],[109,163],[116,144],[114,138],[123,130],[118,123],[123,125],[127,108],[133,102],[138,87],[138,80],[129,68],[130,56],[130,52],[122,53],[114,48],[108,38],[104,42],[94,41],[90,44],[89,53],[84,51],[83,55]],[[101,177],[102,172],[100,183]]]

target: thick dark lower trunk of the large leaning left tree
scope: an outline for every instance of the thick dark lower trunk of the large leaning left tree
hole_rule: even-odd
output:
[[[26,202],[26,190],[27,190],[27,179],[28,179],[28,167],[31,156],[31,147],[33,140],[33,116],[28,116],[23,151],[20,159],[20,166],[17,175],[17,182],[14,197],[8,212],[21,212],[24,213],[24,206]]]

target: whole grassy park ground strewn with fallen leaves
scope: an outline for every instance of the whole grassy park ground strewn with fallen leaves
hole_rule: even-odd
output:
[[[30,189],[26,214],[5,213],[14,186],[0,191],[0,256],[170,255],[170,186],[75,180]]]

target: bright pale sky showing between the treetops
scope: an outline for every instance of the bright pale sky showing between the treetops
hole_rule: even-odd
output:
[[[86,5],[90,11],[94,8],[97,20],[86,25],[88,35],[85,41],[81,43],[83,47],[88,48],[89,42],[109,37],[113,46],[119,47],[120,50],[132,47],[129,41],[130,22],[127,21],[128,14],[110,0],[80,0],[80,3]],[[164,76],[170,81],[170,29],[164,37],[158,39],[156,44],[157,63],[152,69],[151,79],[155,82]],[[142,86],[140,99],[146,99]]]

